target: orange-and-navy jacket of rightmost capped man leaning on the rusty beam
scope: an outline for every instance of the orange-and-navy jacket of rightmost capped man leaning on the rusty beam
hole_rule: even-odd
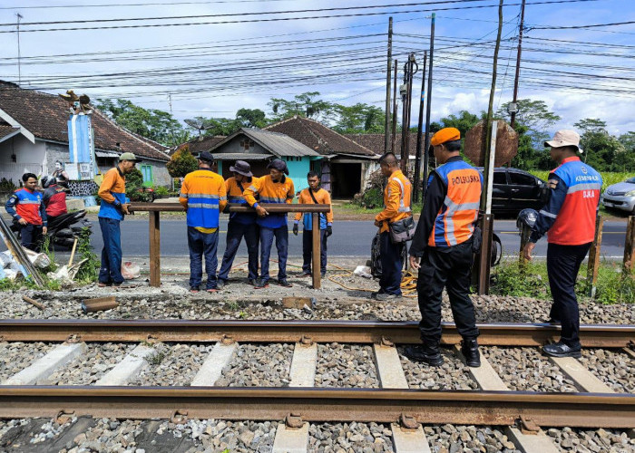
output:
[[[274,182],[270,175],[262,178],[253,178],[249,188],[245,188],[243,195],[250,207],[258,207],[259,201],[256,195],[260,196],[261,203],[288,203],[293,202],[296,189],[293,180],[282,175],[278,182]],[[258,217],[259,226],[267,228],[279,228],[287,225],[287,214],[269,214],[267,217]]]

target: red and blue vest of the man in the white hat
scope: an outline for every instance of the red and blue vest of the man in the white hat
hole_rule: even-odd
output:
[[[562,246],[593,242],[602,187],[600,173],[578,157],[562,160],[552,173],[567,186],[567,195],[555,222],[547,231],[548,242]]]

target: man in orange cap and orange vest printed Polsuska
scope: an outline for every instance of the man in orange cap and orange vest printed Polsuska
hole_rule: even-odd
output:
[[[423,346],[406,348],[405,356],[432,366],[443,363],[439,342],[441,295],[445,288],[454,323],[463,337],[461,352],[465,362],[468,366],[479,367],[478,328],[469,293],[474,261],[474,226],[478,218],[483,175],[461,158],[459,130],[439,130],[431,143],[436,162],[442,165],[428,179],[424,210],[410,246],[410,266],[419,271],[416,291]]]

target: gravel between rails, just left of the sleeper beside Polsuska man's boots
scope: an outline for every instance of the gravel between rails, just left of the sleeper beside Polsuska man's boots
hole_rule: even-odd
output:
[[[316,387],[379,388],[373,357],[370,346],[318,344]]]

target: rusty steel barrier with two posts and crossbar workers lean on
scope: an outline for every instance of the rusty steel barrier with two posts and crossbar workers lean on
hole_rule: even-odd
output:
[[[253,207],[230,203],[230,212],[256,212]],[[279,203],[260,203],[259,206],[264,207],[270,213],[289,213],[302,212],[312,215],[313,231],[319,229],[319,214],[327,213],[331,209],[331,205],[317,204],[279,204]],[[150,285],[154,287],[161,286],[161,221],[160,213],[162,212],[183,212],[184,207],[181,203],[132,203],[129,207],[131,212],[148,212],[149,214],[149,238],[150,238]],[[319,269],[319,235],[313,235],[313,262],[312,268]],[[322,285],[322,275],[319,272],[313,272],[313,287],[319,289]]]

